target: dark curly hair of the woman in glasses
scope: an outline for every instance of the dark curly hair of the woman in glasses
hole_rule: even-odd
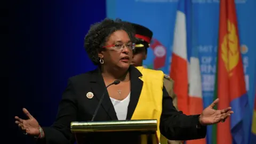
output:
[[[94,65],[99,65],[98,53],[102,51],[102,46],[108,41],[108,38],[117,30],[124,30],[129,35],[131,41],[135,43],[135,31],[131,23],[121,19],[104,19],[101,22],[94,23],[84,39],[84,47],[89,58]]]

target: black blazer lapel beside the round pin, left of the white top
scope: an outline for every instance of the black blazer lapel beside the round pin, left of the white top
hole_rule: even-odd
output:
[[[102,75],[100,74],[99,69],[92,71],[92,76],[91,76],[90,82],[91,82],[92,91],[93,91],[93,93],[95,93],[95,96],[97,97],[97,99],[99,101],[100,101],[100,98],[102,97],[102,94],[105,93],[100,108],[103,107],[103,109],[105,109],[106,113],[109,115],[109,117],[112,120],[117,120],[118,118],[116,116],[115,108],[109,98],[109,94],[108,94],[108,91],[106,90],[105,82],[103,80]],[[96,116],[96,118],[97,118],[97,116]]]

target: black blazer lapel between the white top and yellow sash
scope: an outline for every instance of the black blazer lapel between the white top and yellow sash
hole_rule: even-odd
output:
[[[130,66],[131,98],[130,98],[130,103],[127,110],[126,119],[132,118],[134,110],[139,101],[140,93],[143,86],[143,81],[141,81],[141,79],[139,78],[141,76],[142,74],[137,68]]]

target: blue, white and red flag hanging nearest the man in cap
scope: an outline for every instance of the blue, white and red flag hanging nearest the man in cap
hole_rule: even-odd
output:
[[[203,99],[191,7],[190,0],[179,1],[170,76],[174,80],[174,93],[177,94],[178,109],[187,115],[196,115],[203,111]],[[206,140],[204,138],[186,141],[186,144],[194,143],[205,144]]]

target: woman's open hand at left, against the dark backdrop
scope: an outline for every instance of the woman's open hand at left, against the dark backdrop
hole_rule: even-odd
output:
[[[22,130],[26,131],[26,134],[38,137],[40,135],[39,129],[41,129],[41,127],[39,126],[36,119],[30,115],[26,108],[23,108],[22,110],[28,119],[21,119],[18,116],[15,116],[15,124],[18,124]]]

